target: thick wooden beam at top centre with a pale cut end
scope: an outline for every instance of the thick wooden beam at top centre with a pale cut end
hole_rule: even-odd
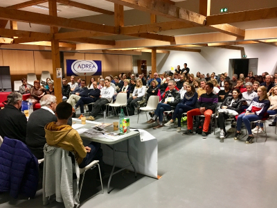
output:
[[[178,6],[166,3],[160,0],[106,0],[113,3],[118,3],[123,6],[128,6],[136,10],[143,10],[155,15],[161,15],[178,21],[186,21],[195,25],[204,25],[206,17],[199,15],[196,12],[180,8]]]

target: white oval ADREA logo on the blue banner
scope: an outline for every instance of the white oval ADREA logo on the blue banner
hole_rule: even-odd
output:
[[[71,65],[71,70],[76,74],[93,75],[97,72],[98,66],[93,60],[75,60]]]

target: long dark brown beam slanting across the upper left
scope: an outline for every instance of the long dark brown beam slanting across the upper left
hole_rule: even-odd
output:
[[[15,10],[3,7],[0,7],[0,19],[24,21],[28,23],[30,22],[34,24],[71,28],[76,30],[98,31],[102,33],[116,34],[114,26],[95,24],[75,19],[67,19],[64,17],[53,17],[50,15],[43,15],[35,12],[27,12],[24,10]]]

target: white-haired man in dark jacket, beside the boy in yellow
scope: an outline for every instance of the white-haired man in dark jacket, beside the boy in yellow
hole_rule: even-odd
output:
[[[44,127],[47,123],[57,122],[57,116],[55,116],[57,99],[53,95],[46,94],[39,103],[41,108],[30,114],[28,119],[26,144],[37,159],[42,159],[44,144],[46,144]],[[72,124],[72,118],[69,118],[67,124]]]

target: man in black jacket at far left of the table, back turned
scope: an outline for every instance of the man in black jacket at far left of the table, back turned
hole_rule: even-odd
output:
[[[26,143],[27,119],[20,111],[22,95],[19,92],[12,92],[7,99],[8,105],[0,110],[0,136]]]

